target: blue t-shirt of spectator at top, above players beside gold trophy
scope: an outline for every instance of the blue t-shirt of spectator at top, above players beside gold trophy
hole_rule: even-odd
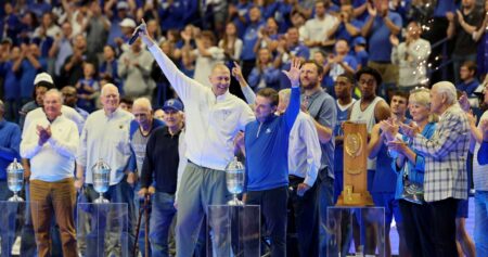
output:
[[[401,17],[398,13],[388,12],[389,20],[401,28]],[[391,62],[391,43],[389,36],[391,31],[386,26],[382,16],[376,16],[368,38],[368,52],[370,53],[370,61],[373,62]]]

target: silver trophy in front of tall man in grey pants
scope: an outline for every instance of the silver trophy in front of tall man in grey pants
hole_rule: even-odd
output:
[[[237,160],[237,157],[226,167],[226,182],[227,190],[233,195],[233,198],[228,202],[232,206],[244,205],[239,198],[237,194],[244,190],[244,165]]]

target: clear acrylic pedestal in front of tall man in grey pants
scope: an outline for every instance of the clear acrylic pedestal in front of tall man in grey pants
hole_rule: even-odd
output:
[[[259,205],[209,205],[207,256],[259,257],[260,217]]]

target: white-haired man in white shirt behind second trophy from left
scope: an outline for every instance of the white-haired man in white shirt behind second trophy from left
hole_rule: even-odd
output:
[[[129,248],[133,245],[133,190],[126,181],[133,176],[126,171],[131,155],[129,127],[133,115],[119,108],[119,94],[116,86],[107,83],[102,88],[101,102],[103,110],[90,114],[81,131],[80,144],[76,156],[75,187],[79,190],[86,185],[89,201],[98,197],[93,189],[93,174],[91,167],[99,159],[103,159],[111,169],[110,188],[105,197],[112,203],[128,204]],[[88,172],[87,169],[88,168]],[[129,178],[130,180],[130,178]],[[103,226],[103,224],[100,224]],[[87,242],[88,243],[88,242]],[[89,245],[88,245],[89,246]],[[103,247],[88,247],[88,250],[104,250]],[[117,249],[118,250],[118,249]],[[91,253],[88,256],[102,256],[103,253]]]

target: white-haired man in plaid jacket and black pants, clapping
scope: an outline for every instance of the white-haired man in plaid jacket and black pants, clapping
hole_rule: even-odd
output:
[[[425,156],[424,198],[435,217],[428,236],[436,256],[458,256],[455,215],[459,201],[467,198],[470,123],[449,81],[433,86],[431,111],[440,116],[431,139],[423,137],[416,126],[401,128],[411,138],[412,147]]]

